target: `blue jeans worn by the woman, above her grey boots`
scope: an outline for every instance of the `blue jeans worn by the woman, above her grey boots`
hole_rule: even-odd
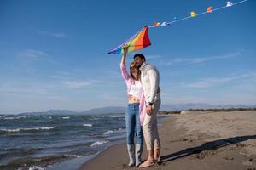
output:
[[[136,135],[137,144],[143,144],[143,129],[140,122],[139,104],[128,104],[125,113],[126,142],[134,144]]]

